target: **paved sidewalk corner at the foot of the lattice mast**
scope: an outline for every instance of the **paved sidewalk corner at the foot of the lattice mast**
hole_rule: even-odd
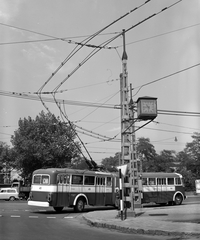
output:
[[[200,204],[143,208],[136,214],[132,217],[128,212],[123,221],[117,210],[89,212],[83,217],[93,226],[128,233],[200,238]]]

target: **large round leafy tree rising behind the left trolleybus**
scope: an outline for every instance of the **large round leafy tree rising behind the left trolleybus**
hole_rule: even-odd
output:
[[[11,138],[16,153],[15,165],[23,178],[34,170],[47,167],[66,167],[79,156],[80,144],[75,141],[71,126],[53,114],[43,111],[36,119],[19,120],[19,128]]]

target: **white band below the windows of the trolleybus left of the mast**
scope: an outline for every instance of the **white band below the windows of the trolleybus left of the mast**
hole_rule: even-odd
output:
[[[32,185],[31,191],[37,192],[106,192],[111,193],[112,187],[103,186],[68,186],[68,185]]]

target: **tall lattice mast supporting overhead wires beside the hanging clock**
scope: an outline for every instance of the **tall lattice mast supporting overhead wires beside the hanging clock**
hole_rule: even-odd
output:
[[[136,156],[135,139],[135,103],[129,100],[129,85],[127,60],[128,56],[125,49],[125,30],[123,30],[123,54],[122,54],[122,73],[120,74],[120,98],[121,98],[121,159],[119,165],[127,165],[128,171],[123,176],[123,200],[124,207],[130,208],[130,216],[136,216],[135,208],[141,206],[141,198],[138,189],[138,160]],[[131,87],[132,88],[132,87]],[[130,89],[131,89],[130,88]],[[120,209],[121,210],[121,209]],[[121,210],[122,212],[122,210]],[[122,217],[121,217],[122,219]]]

